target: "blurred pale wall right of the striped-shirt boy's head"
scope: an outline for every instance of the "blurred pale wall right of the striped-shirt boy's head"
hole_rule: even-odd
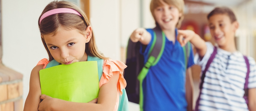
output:
[[[253,33],[253,31],[256,31],[255,6],[256,0],[253,0],[246,1],[232,8],[239,23],[239,28],[236,32],[236,36],[238,37],[238,50],[254,59],[256,59],[255,34]]]

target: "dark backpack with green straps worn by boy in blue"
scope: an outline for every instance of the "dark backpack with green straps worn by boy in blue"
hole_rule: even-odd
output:
[[[140,54],[140,42],[132,42],[131,39],[128,41],[126,51],[126,65],[124,69],[124,79],[127,82],[126,92],[128,101],[134,102],[140,105],[140,110],[143,111],[143,88],[142,82],[146,77],[149,68],[154,66],[160,60],[164,47],[165,47],[165,34],[159,27],[153,29],[154,36],[152,36],[153,43],[148,53],[148,58],[144,58]],[[185,58],[185,70],[187,69],[187,63],[190,55],[190,42],[183,47],[184,58]],[[144,64],[144,59],[147,62]]]

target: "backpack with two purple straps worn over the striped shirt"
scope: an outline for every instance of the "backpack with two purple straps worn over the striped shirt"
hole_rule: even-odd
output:
[[[199,86],[199,89],[200,89],[200,93],[199,93],[199,96],[196,100],[196,107],[195,107],[195,111],[198,111],[198,107],[199,107],[199,99],[201,97],[201,93],[202,93],[202,88],[203,88],[203,82],[204,82],[204,77],[205,77],[205,73],[206,71],[208,70],[208,68],[210,67],[210,64],[211,62],[213,61],[213,59],[215,58],[217,54],[217,47],[215,46],[214,47],[214,50],[209,58],[209,60],[207,61],[206,65],[205,65],[205,69],[203,70],[203,73],[201,75],[201,82],[200,82],[200,86]],[[250,74],[250,64],[249,64],[249,60],[246,56],[244,56],[244,59],[245,59],[245,63],[246,63],[246,67],[247,67],[247,72],[246,72],[246,77],[245,77],[245,86],[244,86],[244,90],[245,90],[245,94],[243,96],[243,98],[245,99],[245,102],[248,106],[248,83],[249,83],[249,74]]]

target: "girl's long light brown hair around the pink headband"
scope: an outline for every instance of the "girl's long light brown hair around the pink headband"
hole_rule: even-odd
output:
[[[39,24],[40,17],[44,13],[46,13],[49,10],[58,9],[58,8],[74,9],[77,12],[79,12],[82,15],[82,17],[72,13],[58,13],[58,14],[47,16]],[[48,35],[48,34],[55,35],[58,29],[60,28],[60,26],[64,27],[65,29],[78,29],[79,32],[83,34],[83,31],[85,31],[87,26],[90,25],[86,14],[74,3],[70,3],[67,1],[53,1],[49,3],[43,10],[40,17],[38,20],[38,26],[42,36]],[[45,40],[43,39],[43,37],[41,37],[41,39],[48,53],[49,61],[52,61],[54,58],[51,55],[49,49],[47,48]],[[91,40],[85,44],[85,52],[89,56],[96,56],[101,59],[108,59],[107,57],[104,57],[102,54],[98,52],[93,31],[92,31]]]

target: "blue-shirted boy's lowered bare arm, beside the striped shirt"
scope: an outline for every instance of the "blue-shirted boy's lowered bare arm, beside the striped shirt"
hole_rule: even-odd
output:
[[[192,111],[193,110],[193,90],[194,90],[194,85],[193,85],[193,79],[191,75],[191,67],[187,69],[186,72],[186,100],[188,103],[187,106],[187,111]]]

